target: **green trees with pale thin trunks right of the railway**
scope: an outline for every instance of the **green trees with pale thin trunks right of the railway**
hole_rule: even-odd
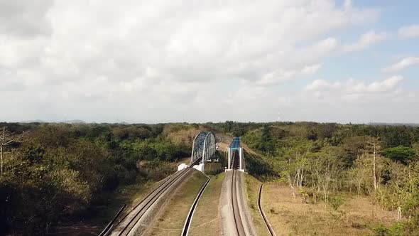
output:
[[[310,122],[248,127],[243,125],[242,141],[259,152],[254,171],[259,177],[283,181],[312,203],[336,205],[342,193],[371,195],[374,204],[401,211],[397,232],[383,232],[419,232],[419,127]]]

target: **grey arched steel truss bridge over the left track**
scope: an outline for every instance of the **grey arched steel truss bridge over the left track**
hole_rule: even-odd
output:
[[[215,135],[212,132],[203,131],[195,136],[192,144],[192,156],[190,163],[206,163],[215,154]]]

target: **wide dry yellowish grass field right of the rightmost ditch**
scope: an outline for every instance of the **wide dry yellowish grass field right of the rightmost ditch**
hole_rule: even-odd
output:
[[[277,235],[371,235],[376,225],[391,225],[396,213],[374,209],[371,198],[342,195],[331,203],[294,200],[290,187],[280,183],[263,186],[262,207]]]

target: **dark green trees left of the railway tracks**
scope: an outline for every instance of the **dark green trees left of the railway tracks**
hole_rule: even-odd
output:
[[[187,124],[0,124],[0,235],[45,235],[58,222],[94,215],[100,196],[157,181],[190,156],[202,127]],[[21,139],[14,139],[19,136]]]

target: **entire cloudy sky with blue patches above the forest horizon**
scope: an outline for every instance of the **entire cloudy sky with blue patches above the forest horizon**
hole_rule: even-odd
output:
[[[0,121],[419,123],[418,9],[0,0]]]

